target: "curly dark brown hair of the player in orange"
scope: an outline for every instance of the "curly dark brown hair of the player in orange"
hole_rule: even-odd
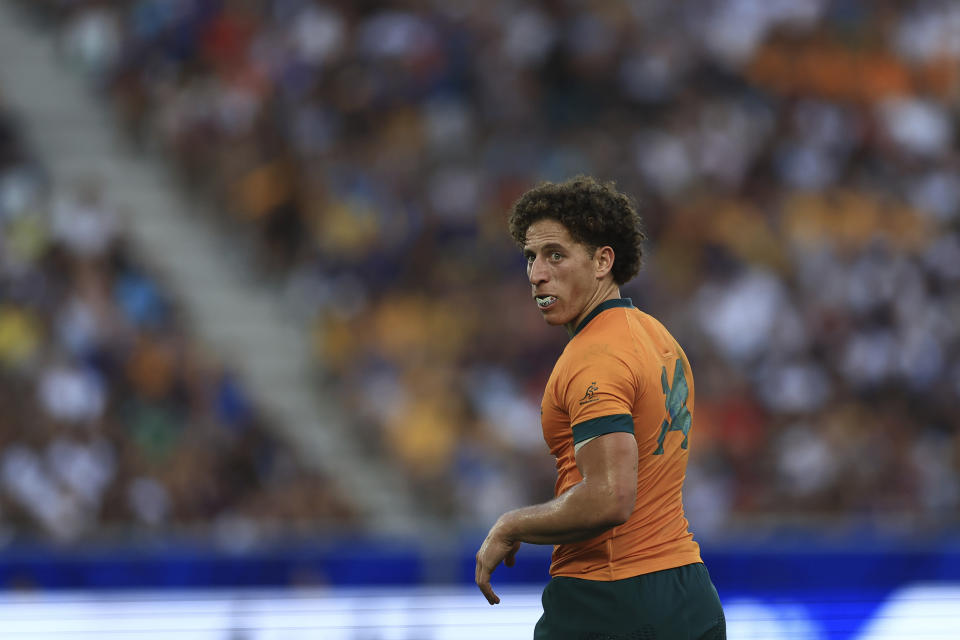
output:
[[[544,218],[560,222],[590,253],[598,247],[611,247],[611,272],[618,285],[640,271],[647,236],[633,201],[617,191],[613,182],[601,183],[582,175],[564,182],[541,182],[514,203],[510,235],[522,247],[530,225]]]

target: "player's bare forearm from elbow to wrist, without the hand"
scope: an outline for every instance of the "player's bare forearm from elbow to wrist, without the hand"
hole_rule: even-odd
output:
[[[549,502],[508,511],[496,526],[511,542],[579,542],[622,524],[623,519],[607,508],[609,503],[609,491],[581,481]]]

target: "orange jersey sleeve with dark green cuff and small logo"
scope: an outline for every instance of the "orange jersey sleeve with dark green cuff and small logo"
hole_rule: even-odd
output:
[[[574,444],[617,431],[633,433],[632,411],[639,391],[633,372],[606,345],[578,355],[557,394],[570,416]]]

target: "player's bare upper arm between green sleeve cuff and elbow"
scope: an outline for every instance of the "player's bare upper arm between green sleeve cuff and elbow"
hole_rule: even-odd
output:
[[[637,497],[637,441],[632,433],[616,431],[592,438],[577,451],[577,468],[597,492],[598,507],[624,522]]]

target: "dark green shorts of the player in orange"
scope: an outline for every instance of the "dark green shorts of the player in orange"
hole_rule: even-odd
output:
[[[725,640],[717,590],[701,562],[600,582],[553,578],[534,640]]]

